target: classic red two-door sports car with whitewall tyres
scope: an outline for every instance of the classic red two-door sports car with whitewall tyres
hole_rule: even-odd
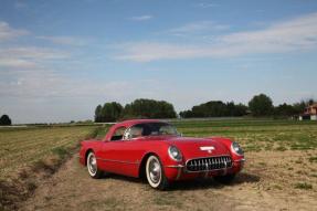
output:
[[[228,138],[181,137],[169,123],[135,119],[115,124],[103,140],[82,141],[80,161],[92,178],[103,172],[146,177],[152,188],[166,189],[175,180],[197,177],[229,182],[244,156]]]

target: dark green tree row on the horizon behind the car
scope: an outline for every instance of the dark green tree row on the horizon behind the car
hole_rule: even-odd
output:
[[[313,99],[302,101],[295,104],[273,105],[273,101],[265,94],[255,95],[247,105],[234,102],[223,103],[210,101],[193,106],[191,109],[179,113],[181,118],[191,117],[240,117],[252,115],[255,117],[290,117],[299,115],[305,107],[311,105]],[[95,122],[116,122],[127,118],[176,118],[178,115],[171,103],[155,99],[135,99],[130,104],[121,106],[117,102],[98,105],[95,109]]]

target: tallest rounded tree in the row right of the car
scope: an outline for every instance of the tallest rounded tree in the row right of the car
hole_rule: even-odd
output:
[[[274,107],[272,99],[267,95],[260,94],[249,102],[249,108],[254,116],[268,116],[272,115]]]

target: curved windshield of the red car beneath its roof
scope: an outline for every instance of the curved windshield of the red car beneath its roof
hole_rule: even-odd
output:
[[[167,123],[142,123],[128,128],[124,139],[137,138],[141,136],[177,136],[176,128]]]

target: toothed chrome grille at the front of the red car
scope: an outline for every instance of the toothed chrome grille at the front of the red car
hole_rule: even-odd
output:
[[[196,158],[186,162],[188,171],[212,171],[232,167],[230,156]]]

